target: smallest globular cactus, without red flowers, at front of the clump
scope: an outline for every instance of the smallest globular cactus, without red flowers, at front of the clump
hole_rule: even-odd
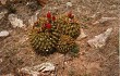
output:
[[[73,38],[67,35],[61,35],[57,50],[58,52],[65,54],[74,48],[74,45],[75,42]]]

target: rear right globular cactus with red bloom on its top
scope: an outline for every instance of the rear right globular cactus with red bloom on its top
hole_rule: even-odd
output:
[[[79,37],[80,24],[71,12],[68,15],[60,17],[59,23],[61,24],[60,27],[63,35],[69,35],[74,39]]]

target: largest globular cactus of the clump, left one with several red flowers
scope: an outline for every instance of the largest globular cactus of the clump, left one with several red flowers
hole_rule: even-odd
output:
[[[47,18],[40,17],[33,26],[29,40],[35,51],[41,55],[55,52],[55,47],[59,40],[59,34],[52,29],[55,21],[51,14],[47,13]]]

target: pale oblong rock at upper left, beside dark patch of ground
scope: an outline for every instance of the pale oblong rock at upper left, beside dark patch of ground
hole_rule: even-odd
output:
[[[20,20],[17,17],[17,15],[15,15],[15,14],[10,14],[9,15],[9,21],[13,25],[14,28],[15,27],[24,27],[25,26],[25,24],[23,24],[23,21]]]

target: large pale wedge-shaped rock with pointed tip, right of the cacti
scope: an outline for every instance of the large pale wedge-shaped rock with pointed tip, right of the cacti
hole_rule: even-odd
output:
[[[94,47],[95,48],[101,48],[103,46],[106,45],[106,40],[110,36],[111,31],[112,31],[112,28],[108,28],[105,33],[103,33],[98,36],[95,36],[94,39],[88,40],[87,41],[88,45],[93,48]]]

